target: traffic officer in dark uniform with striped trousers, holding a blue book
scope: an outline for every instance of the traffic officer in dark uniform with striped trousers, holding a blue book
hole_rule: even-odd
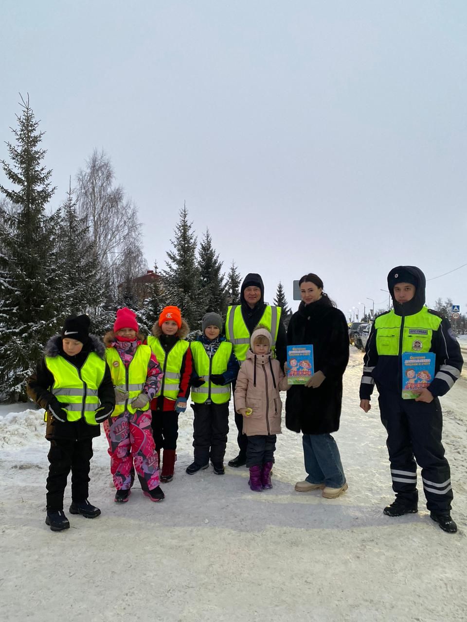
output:
[[[415,266],[397,266],[387,276],[394,309],[375,318],[364,358],[360,406],[368,412],[376,384],[382,423],[387,430],[395,501],[387,516],[418,511],[417,463],[430,517],[448,533],[457,531],[451,518],[451,474],[441,442],[443,414],[438,397],[460,377],[460,345],[448,320],[425,307],[425,275]],[[402,396],[402,354],[435,353],[435,378],[427,388],[413,389],[416,399]]]

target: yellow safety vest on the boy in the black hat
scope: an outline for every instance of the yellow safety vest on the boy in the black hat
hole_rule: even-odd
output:
[[[89,425],[99,425],[94,411],[99,407],[98,389],[105,374],[105,361],[90,352],[81,369],[63,356],[45,356],[45,365],[54,376],[50,392],[67,411],[67,421],[84,417]]]

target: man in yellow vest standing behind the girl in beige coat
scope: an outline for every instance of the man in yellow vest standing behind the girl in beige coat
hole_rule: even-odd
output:
[[[271,333],[272,351],[281,368],[284,367],[287,359],[287,339],[281,313],[281,307],[273,307],[264,302],[264,284],[261,276],[255,272],[247,274],[240,288],[240,304],[229,307],[225,320],[225,337],[234,345],[234,353],[240,364],[247,356],[253,330],[261,326]],[[232,393],[234,391],[235,383],[232,383]],[[230,460],[229,466],[243,466],[247,462],[248,439],[243,434],[243,417],[236,409],[235,425],[238,430],[237,442],[240,453]]]

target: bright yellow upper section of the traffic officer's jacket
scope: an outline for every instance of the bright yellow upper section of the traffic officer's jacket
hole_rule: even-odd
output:
[[[375,319],[376,350],[380,356],[429,352],[433,331],[438,330],[440,324],[441,318],[428,312],[427,307],[405,316],[396,315],[393,309]]]

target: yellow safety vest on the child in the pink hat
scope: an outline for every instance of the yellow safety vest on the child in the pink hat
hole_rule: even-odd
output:
[[[123,363],[116,348],[106,348],[105,358],[110,367],[113,386],[121,391],[128,391],[128,399],[124,404],[115,404],[112,417],[118,417],[122,412],[136,412],[131,406],[131,400],[138,396],[144,389],[148,377],[148,365],[151,359],[151,348],[145,345],[137,346],[133,359],[128,367]],[[140,409],[141,410],[141,409]]]

